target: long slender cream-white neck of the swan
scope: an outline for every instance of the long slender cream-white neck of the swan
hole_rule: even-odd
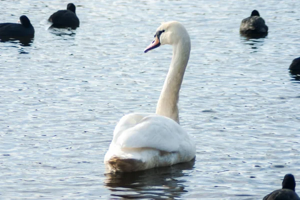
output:
[[[173,45],[171,64],[157,102],[156,114],[173,119],[179,124],[178,100],[190,52],[189,36]]]

